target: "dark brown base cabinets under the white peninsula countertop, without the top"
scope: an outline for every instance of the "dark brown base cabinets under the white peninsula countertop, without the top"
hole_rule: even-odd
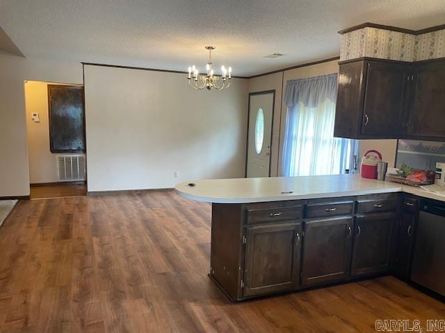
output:
[[[209,275],[234,301],[383,273],[405,277],[418,200],[391,193],[213,203]]]

